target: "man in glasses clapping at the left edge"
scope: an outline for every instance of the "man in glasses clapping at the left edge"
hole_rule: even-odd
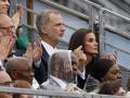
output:
[[[12,54],[13,46],[16,40],[14,35],[14,24],[11,17],[6,14],[0,14],[0,60],[1,68],[4,70],[4,60]]]

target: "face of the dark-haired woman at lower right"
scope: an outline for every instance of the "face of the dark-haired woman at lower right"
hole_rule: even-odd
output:
[[[117,82],[121,82],[121,74],[120,74],[119,66],[117,64],[114,64],[108,70],[106,75],[103,77],[103,81],[117,81]]]

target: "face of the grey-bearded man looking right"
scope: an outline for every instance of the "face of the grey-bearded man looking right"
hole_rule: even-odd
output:
[[[47,23],[44,27],[44,32],[47,33],[47,36],[54,40],[60,41],[64,37],[64,22],[60,14],[50,14],[50,21]]]

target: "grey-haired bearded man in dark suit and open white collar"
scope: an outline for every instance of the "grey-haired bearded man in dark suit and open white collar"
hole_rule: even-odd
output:
[[[39,84],[48,79],[48,60],[64,36],[64,22],[58,11],[46,10],[37,15],[36,26],[41,38],[42,56],[34,64],[35,78]]]

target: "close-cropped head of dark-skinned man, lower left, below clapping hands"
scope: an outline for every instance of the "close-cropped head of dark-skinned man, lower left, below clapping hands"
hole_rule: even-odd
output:
[[[24,79],[32,83],[34,70],[32,62],[24,57],[12,58],[6,62],[6,72],[13,81]]]

